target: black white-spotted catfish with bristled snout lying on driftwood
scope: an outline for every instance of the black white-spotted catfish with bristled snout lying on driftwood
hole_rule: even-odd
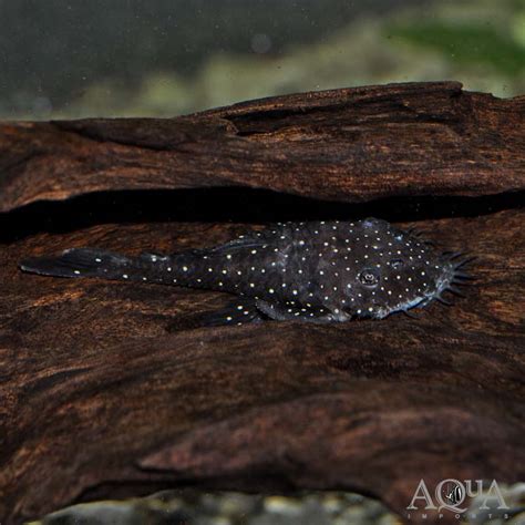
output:
[[[23,260],[23,271],[223,291],[231,302],[207,325],[266,320],[331,323],[384,319],[461,295],[472,258],[440,251],[387,220],[288,222],[204,249],[125,256],[71,248]],[[235,298],[234,298],[235,296]]]

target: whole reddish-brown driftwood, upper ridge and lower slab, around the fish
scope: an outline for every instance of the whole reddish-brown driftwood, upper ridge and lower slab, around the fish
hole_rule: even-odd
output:
[[[91,194],[209,186],[361,204]],[[403,515],[420,478],[524,480],[524,188],[525,100],[455,83],[0,125],[0,521],[188,485],[350,488]],[[419,320],[210,329],[199,316],[220,294],[17,268],[66,247],[174,251],[363,215],[476,255],[467,297]]]

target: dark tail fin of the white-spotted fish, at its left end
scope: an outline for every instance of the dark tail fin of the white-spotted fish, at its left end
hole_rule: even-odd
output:
[[[132,278],[134,265],[128,257],[112,251],[72,248],[58,257],[34,257],[23,260],[23,271],[54,277],[102,277],[104,279]],[[133,275],[133,277],[136,277]]]

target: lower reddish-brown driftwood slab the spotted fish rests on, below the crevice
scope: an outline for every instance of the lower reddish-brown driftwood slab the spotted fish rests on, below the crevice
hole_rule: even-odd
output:
[[[226,296],[17,269],[28,254],[172,251],[249,225],[97,224],[10,241],[0,515],[18,523],[187,484],[352,488],[402,514],[421,477],[523,480],[524,216],[419,222],[440,245],[478,255],[467,298],[419,320],[340,326],[198,328]]]

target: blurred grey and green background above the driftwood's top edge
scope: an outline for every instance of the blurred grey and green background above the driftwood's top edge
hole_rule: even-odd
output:
[[[450,79],[525,92],[525,0],[0,0],[0,119]]]

